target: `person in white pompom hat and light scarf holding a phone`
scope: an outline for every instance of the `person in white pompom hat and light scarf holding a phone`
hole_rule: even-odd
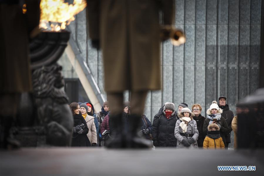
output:
[[[207,118],[204,120],[204,127],[203,132],[204,135],[207,135],[208,132],[208,125],[214,123],[219,126],[220,128],[220,136],[223,139],[223,142],[226,146],[226,138],[225,136],[228,135],[228,125],[226,123],[225,118],[222,117],[221,113],[223,113],[223,110],[218,107],[218,104],[216,101],[213,101],[210,105],[210,108],[207,109],[206,114]]]

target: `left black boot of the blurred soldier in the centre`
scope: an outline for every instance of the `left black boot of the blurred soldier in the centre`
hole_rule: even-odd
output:
[[[123,133],[122,114],[109,115],[110,137],[107,148],[125,148],[126,140]]]

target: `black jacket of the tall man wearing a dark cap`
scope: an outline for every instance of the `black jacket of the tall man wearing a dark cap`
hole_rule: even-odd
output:
[[[231,139],[230,139],[230,133],[232,131],[232,120],[234,118],[234,113],[229,110],[229,106],[228,104],[226,104],[225,106],[220,106],[218,105],[219,108],[221,108],[223,110],[222,116],[223,118],[226,120],[226,123],[228,125],[228,135],[226,135],[226,142],[227,143],[231,143]]]

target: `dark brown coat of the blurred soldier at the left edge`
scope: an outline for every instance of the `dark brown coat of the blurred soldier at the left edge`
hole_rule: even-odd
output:
[[[32,90],[28,34],[38,27],[40,0],[25,0],[27,12],[19,4],[0,4],[0,93]]]

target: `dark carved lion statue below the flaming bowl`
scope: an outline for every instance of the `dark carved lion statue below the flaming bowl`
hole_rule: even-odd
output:
[[[44,126],[47,145],[70,146],[73,117],[64,90],[62,67],[57,63],[33,71],[33,100],[37,124]]]

